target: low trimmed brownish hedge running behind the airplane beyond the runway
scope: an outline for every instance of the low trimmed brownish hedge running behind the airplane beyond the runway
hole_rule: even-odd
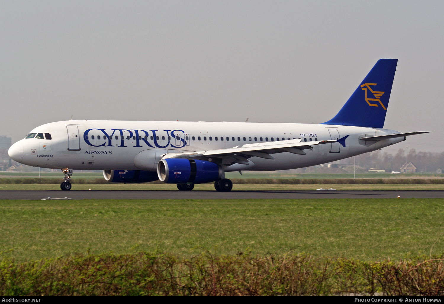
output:
[[[331,179],[297,179],[297,178],[234,178],[233,184],[444,184],[444,179],[413,178],[331,178]],[[60,184],[57,178],[0,178],[0,184]],[[114,184],[103,178],[74,178],[72,184]],[[151,184],[163,184],[159,180]]]

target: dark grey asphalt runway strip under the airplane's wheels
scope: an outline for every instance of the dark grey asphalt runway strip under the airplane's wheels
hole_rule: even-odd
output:
[[[444,191],[61,191],[1,190],[0,200],[245,200],[245,199],[365,199],[444,198]]]

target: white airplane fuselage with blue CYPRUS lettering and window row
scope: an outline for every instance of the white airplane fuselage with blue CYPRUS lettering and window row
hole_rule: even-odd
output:
[[[261,141],[287,139],[337,140],[346,135],[345,147],[339,143],[314,145],[306,155],[289,152],[273,154],[274,160],[251,157],[250,165],[231,166],[237,170],[285,170],[324,164],[392,144],[404,137],[373,142],[359,137],[400,132],[325,124],[274,124],[179,121],[69,120],[44,124],[30,133],[49,133],[51,140],[28,138],[13,144],[9,155],[22,164],[41,168],[75,170],[151,170],[153,164],[135,164],[139,152],[153,150],[162,156],[172,152],[208,151],[233,148]],[[200,138],[200,139],[199,139]],[[217,140],[216,140],[217,138]],[[150,160],[151,161],[151,160]],[[151,169],[152,168],[152,169]]]

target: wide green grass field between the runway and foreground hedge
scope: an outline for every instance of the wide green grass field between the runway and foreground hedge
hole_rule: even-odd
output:
[[[0,200],[0,212],[0,252],[18,261],[88,251],[359,260],[444,253],[444,199]]]

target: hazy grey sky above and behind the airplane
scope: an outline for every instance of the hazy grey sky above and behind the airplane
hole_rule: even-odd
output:
[[[322,123],[399,59],[385,128],[444,151],[444,1],[0,1],[0,134],[73,119]],[[406,148],[408,147],[408,148]]]

